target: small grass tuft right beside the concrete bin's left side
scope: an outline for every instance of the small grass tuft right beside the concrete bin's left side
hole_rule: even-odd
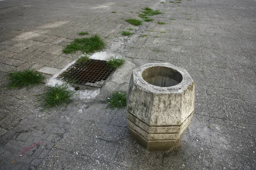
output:
[[[115,91],[107,100],[110,108],[123,108],[126,107],[126,93]]]

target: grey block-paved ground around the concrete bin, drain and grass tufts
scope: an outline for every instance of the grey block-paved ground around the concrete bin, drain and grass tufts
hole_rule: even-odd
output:
[[[0,1],[0,168],[256,169],[255,0],[163,2]],[[143,26],[125,22],[139,18],[145,6],[164,14]],[[122,36],[127,28],[134,35]],[[45,85],[6,88],[10,71],[62,69],[79,57],[60,53],[81,31],[99,34],[106,51],[136,67],[169,62],[189,72],[196,85],[194,116],[172,150],[145,150],[129,135],[126,111],[111,111],[104,102],[77,99],[40,112],[33,95]],[[35,142],[44,143],[20,157]]]

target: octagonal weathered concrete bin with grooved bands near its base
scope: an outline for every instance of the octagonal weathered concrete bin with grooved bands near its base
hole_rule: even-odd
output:
[[[128,128],[148,150],[169,150],[189,127],[195,85],[188,72],[169,63],[148,63],[130,79]]]

